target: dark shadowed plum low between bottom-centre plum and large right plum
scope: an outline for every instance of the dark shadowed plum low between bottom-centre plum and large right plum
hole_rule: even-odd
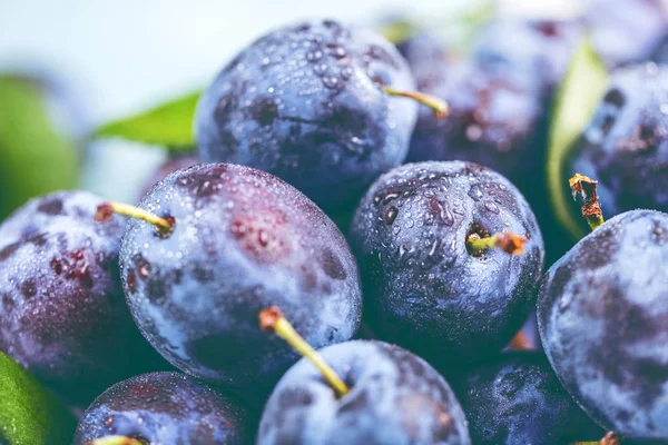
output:
[[[540,353],[500,355],[471,372],[459,394],[477,445],[570,444],[605,435]]]

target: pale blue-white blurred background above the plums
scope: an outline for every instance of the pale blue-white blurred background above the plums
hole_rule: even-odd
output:
[[[410,3],[410,4],[407,4]],[[208,82],[237,51],[277,24],[332,17],[372,22],[405,13],[439,19],[479,8],[471,0],[22,0],[0,2],[0,67],[46,69],[67,79],[92,121],[140,110]],[[502,13],[574,16],[579,0],[505,0]]]

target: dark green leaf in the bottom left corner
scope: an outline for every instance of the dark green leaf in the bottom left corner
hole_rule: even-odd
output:
[[[77,421],[26,369],[0,353],[0,443],[71,443]]]

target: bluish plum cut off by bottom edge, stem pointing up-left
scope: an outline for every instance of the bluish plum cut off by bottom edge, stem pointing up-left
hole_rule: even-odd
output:
[[[350,392],[337,398],[320,370],[299,360],[265,406],[258,445],[471,443],[450,386],[416,355],[372,340],[346,342],[320,353]]]

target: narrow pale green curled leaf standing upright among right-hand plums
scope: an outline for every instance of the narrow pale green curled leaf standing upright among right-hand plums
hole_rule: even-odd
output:
[[[573,237],[587,235],[572,202],[563,161],[591,121],[608,82],[608,71],[588,38],[578,46],[571,66],[557,91],[550,122],[548,190],[554,217]],[[596,178],[593,178],[596,179]]]

